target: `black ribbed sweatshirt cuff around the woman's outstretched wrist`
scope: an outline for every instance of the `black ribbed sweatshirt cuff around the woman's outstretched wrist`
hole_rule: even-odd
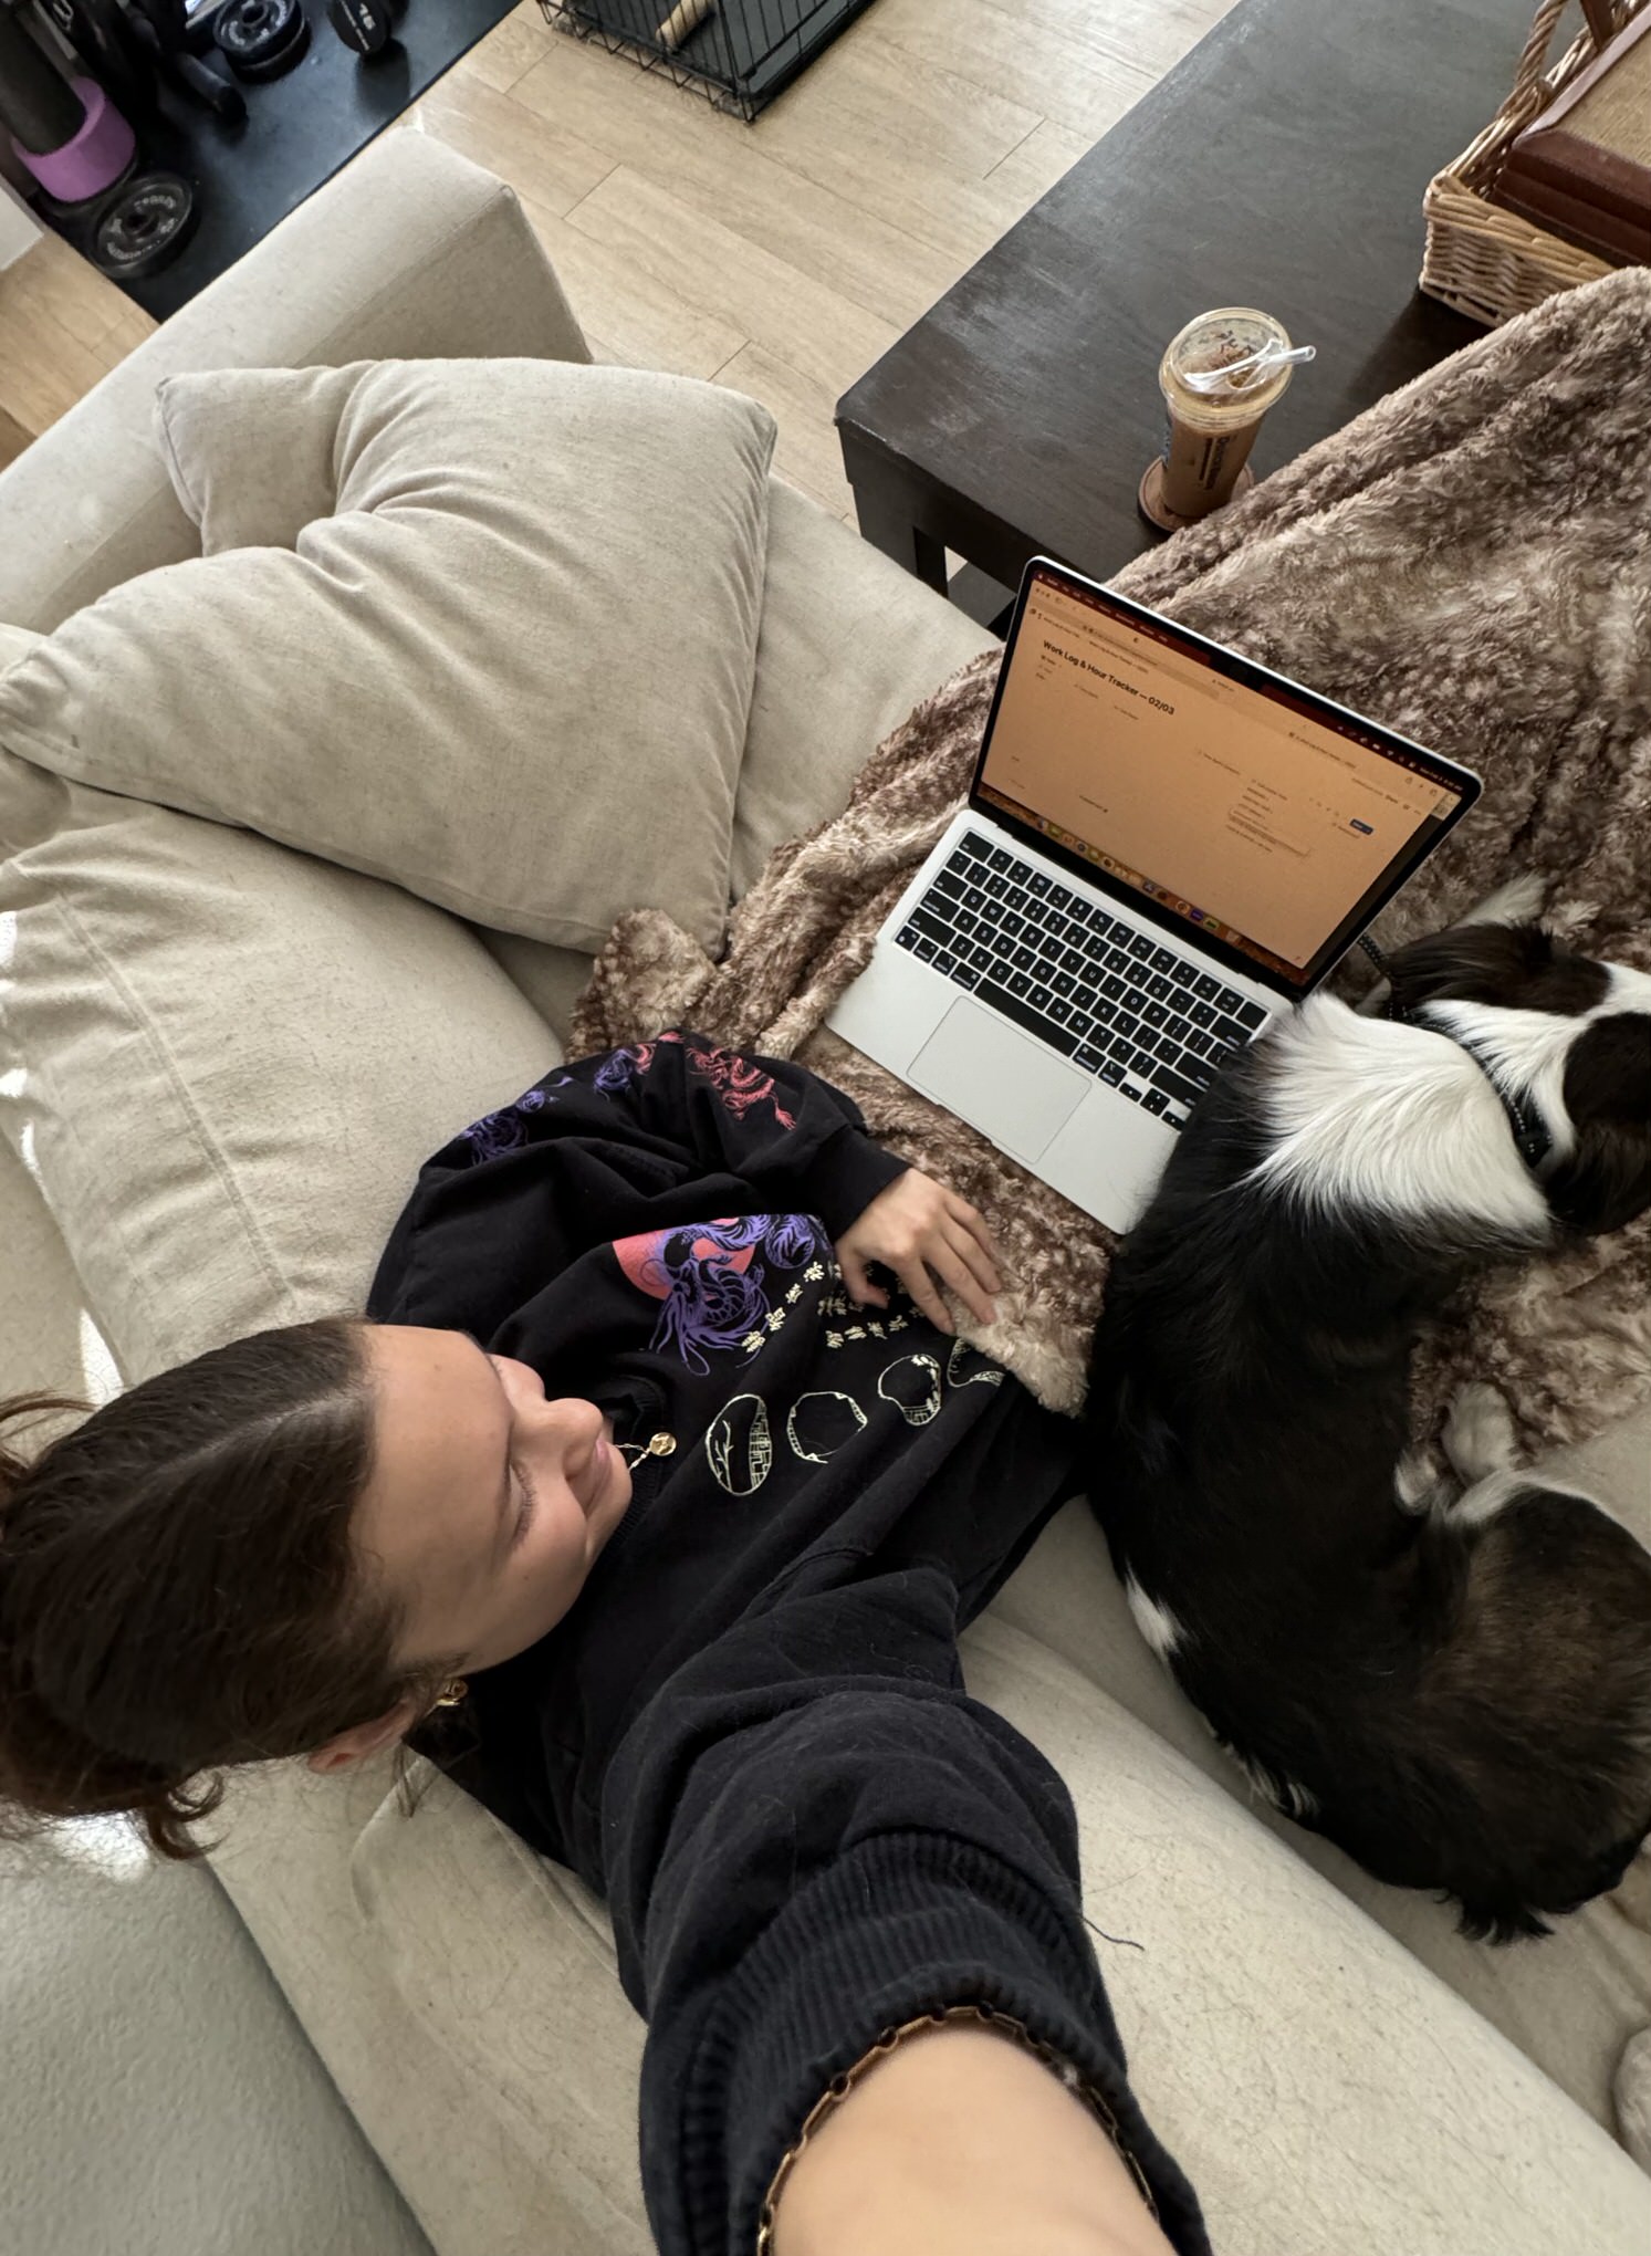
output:
[[[1171,2245],[1209,2256],[1193,2188],[1128,2087],[1083,1927],[1013,1866],[929,1832],[882,1834],[821,1872],[681,2055],[650,2062],[643,2177],[663,2256],[751,2256],[769,2182],[830,2080],[884,2028],[968,2003],[1010,2015],[1078,2069]]]

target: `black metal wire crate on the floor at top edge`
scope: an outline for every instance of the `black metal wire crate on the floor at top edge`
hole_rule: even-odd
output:
[[[539,0],[546,23],[697,86],[747,124],[871,0]]]

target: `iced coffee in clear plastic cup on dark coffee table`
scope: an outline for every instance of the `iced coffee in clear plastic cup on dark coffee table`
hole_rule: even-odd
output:
[[[1157,381],[1168,408],[1164,453],[1141,478],[1141,512],[1166,532],[1209,517],[1254,485],[1250,449],[1261,417],[1286,393],[1292,363],[1256,365],[1261,352],[1288,352],[1290,332],[1247,305],[1218,307],[1171,338]],[[1247,361],[1247,368],[1236,363]],[[1231,368],[1231,379],[1220,377]]]

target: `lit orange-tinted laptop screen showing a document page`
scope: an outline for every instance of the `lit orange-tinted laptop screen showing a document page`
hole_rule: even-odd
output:
[[[1033,566],[974,796],[1101,891],[1306,990],[1477,778],[1182,636]]]

